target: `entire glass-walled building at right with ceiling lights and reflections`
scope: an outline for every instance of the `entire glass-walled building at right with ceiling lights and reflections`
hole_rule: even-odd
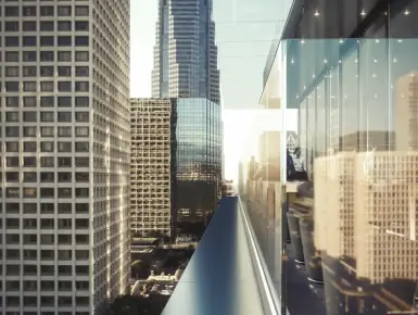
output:
[[[281,109],[281,180],[249,176],[245,204],[282,306],[418,314],[418,1],[308,1],[261,106]],[[287,181],[290,125],[307,198]]]

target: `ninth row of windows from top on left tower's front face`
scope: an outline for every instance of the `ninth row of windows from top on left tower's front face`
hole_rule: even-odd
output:
[[[9,126],[5,127],[5,137],[40,137],[50,138],[50,137],[73,137],[73,126],[71,127],[40,127],[30,126],[30,127],[22,127],[23,133],[21,133],[21,126]],[[74,135],[76,137],[88,137],[89,136],[89,127],[74,127]],[[1,129],[0,129],[1,136]]]

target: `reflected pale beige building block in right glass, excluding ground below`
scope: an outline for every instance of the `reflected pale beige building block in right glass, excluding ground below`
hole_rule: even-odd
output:
[[[340,152],[315,160],[315,244],[351,257],[370,284],[418,279],[418,153]]]

